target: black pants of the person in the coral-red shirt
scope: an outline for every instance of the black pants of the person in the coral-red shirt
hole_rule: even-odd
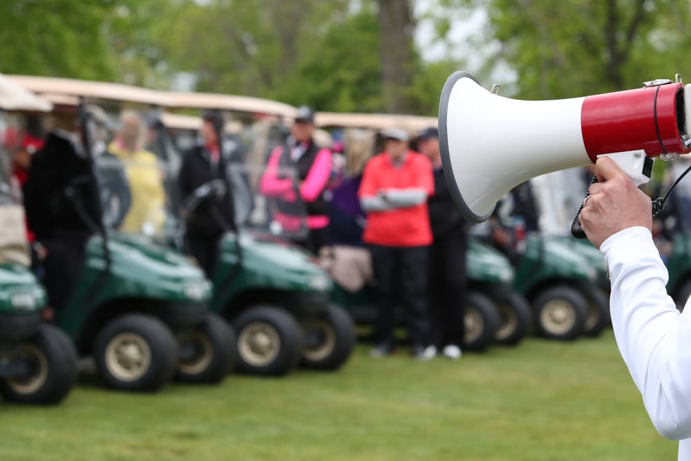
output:
[[[378,309],[375,341],[393,347],[397,305],[404,308],[408,339],[413,346],[430,344],[427,312],[429,247],[370,245],[377,283]]]

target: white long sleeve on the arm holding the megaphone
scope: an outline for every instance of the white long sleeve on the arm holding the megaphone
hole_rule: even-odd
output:
[[[621,355],[663,437],[691,460],[691,308],[676,310],[650,230],[632,227],[600,247],[612,279],[612,328]]]

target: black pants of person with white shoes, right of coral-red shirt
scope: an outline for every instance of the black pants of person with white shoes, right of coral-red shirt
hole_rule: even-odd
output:
[[[430,247],[430,333],[437,348],[463,344],[467,248],[462,232],[436,236]]]

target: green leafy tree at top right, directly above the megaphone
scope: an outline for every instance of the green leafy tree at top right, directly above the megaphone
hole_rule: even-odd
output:
[[[672,0],[444,0],[484,8],[486,62],[518,75],[517,97],[555,99],[635,88],[673,78],[685,59],[691,3]]]

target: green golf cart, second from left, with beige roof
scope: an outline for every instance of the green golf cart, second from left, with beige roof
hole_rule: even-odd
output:
[[[36,86],[41,93],[73,98],[61,100],[50,116],[74,120],[79,107],[82,142],[77,146],[84,146],[86,162],[91,164],[86,173],[55,185],[48,200],[49,206],[59,204],[71,216],[78,216],[91,234],[77,281],[64,304],[55,309],[55,325],[74,341],[79,355],[93,358],[97,375],[110,388],[158,391],[172,378],[220,382],[233,366],[235,336],[223,319],[207,309],[211,284],[202,271],[186,256],[153,243],[146,225],[135,233],[107,227],[106,204],[113,200],[104,178],[119,173],[111,173],[113,162],[100,153],[94,155],[89,142],[95,131],[91,126],[94,113],[84,103],[75,107],[74,98],[86,94],[107,100],[122,97],[128,88],[68,79],[14,79],[23,86]],[[122,164],[115,168],[123,169]],[[94,202],[100,203],[97,213],[87,212],[87,205]]]

